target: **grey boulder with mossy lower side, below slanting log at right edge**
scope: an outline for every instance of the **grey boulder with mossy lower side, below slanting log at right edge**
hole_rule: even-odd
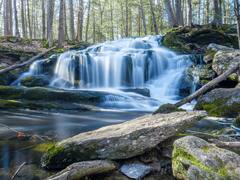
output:
[[[201,96],[195,109],[212,116],[236,117],[240,112],[240,88],[214,89]]]

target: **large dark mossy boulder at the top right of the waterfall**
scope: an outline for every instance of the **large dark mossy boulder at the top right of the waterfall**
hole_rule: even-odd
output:
[[[211,43],[238,46],[236,37],[210,26],[174,28],[166,33],[162,42],[164,46],[175,51],[196,53],[202,53]]]

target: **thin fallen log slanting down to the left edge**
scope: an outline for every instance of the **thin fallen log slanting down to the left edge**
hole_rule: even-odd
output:
[[[1,69],[0,70],[0,75],[1,74],[4,74],[4,73],[7,73],[9,71],[12,71],[12,70],[15,70],[17,68],[21,68],[21,67],[24,67],[24,66],[27,66],[29,64],[32,64],[34,61],[36,61],[37,59],[41,58],[42,56],[46,55],[47,53],[49,53],[50,51],[54,50],[56,47],[52,47],[42,53],[39,53],[38,55],[30,58],[29,60],[27,61],[24,61],[23,63],[18,63],[18,64],[14,64],[12,66],[9,66],[9,67],[6,67],[4,69]]]

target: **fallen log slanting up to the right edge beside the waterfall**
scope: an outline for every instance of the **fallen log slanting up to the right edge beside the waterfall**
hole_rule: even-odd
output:
[[[230,68],[227,71],[225,71],[223,74],[221,74],[220,76],[216,77],[212,81],[208,82],[203,87],[198,89],[196,92],[194,92],[193,94],[185,97],[184,99],[182,99],[181,101],[177,102],[176,104],[172,104],[172,106],[177,108],[177,107],[180,107],[180,106],[182,106],[182,105],[184,105],[184,104],[186,104],[188,102],[191,102],[192,100],[198,98],[199,96],[203,95],[204,93],[206,93],[209,90],[211,90],[212,88],[214,88],[220,82],[226,80],[228,78],[228,76],[230,76],[231,74],[237,72],[239,69],[240,69],[240,59],[239,59],[238,63],[231,65]],[[170,106],[169,104],[167,104],[167,105]],[[153,114],[161,113],[163,111],[162,109],[166,109],[166,104],[163,104],[162,106],[160,106],[158,108],[158,110],[156,110]],[[172,109],[174,109],[174,108],[172,107]]]

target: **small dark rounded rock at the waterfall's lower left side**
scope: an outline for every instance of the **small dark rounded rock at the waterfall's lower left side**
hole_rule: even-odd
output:
[[[22,86],[26,87],[44,87],[47,86],[49,82],[49,78],[46,76],[26,76],[20,81]]]

